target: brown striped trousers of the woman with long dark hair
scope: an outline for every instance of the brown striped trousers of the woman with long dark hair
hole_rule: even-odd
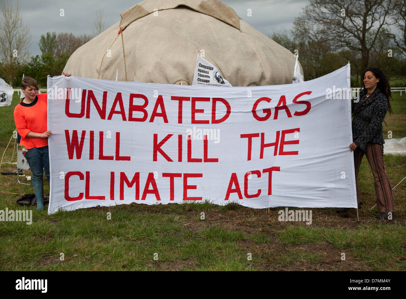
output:
[[[391,182],[389,181],[389,177],[383,164],[383,145],[368,143],[365,147],[365,155],[367,156],[369,166],[371,166],[372,175],[374,176],[376,204],[378,205],[379,210],[387,213],[394,212],[395,198],[393,196]],[[358,204],[361,202],[358,188],[358,172],[363,156],[364,152],[357,147],[354,151],[354,166]]]

